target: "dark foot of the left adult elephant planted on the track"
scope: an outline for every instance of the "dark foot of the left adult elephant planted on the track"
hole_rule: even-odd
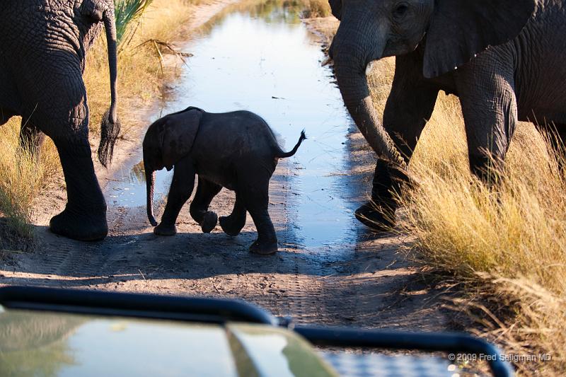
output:
[[[102,240],[108,235],[106,210],[93,214],[92,211],[81,213],[81,211],[64,209],[60,214],[52,217],[49,228],[52,233],[73,240]]]

